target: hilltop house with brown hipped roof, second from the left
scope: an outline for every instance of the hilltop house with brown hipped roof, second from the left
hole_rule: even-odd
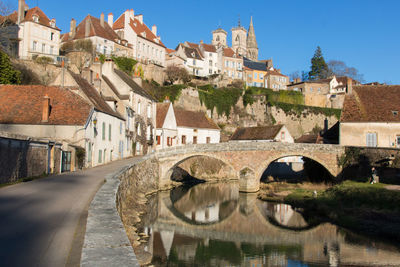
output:
[[[105,22],[103,13],[100,19],[87,15],[78,26],[71,20],[70,32],[61,36],[61,45],[77,40],[90,40],[96,54],[133,56],[133,49]]]

